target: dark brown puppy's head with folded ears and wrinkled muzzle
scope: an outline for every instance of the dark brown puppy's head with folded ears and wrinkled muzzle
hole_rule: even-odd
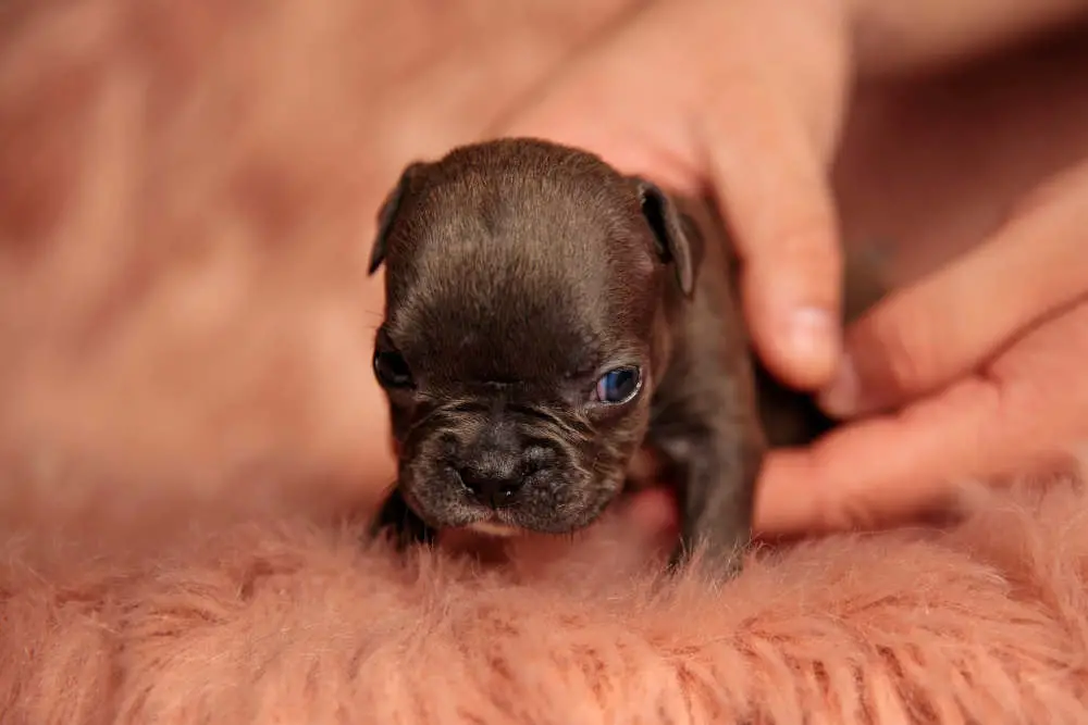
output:
[[[531,139],[410,164],[379,215],[374,373],[435,528],[566,533],[623,485],[698,250],[655,186]]]

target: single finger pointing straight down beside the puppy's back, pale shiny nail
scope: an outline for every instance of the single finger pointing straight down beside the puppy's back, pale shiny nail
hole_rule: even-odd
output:
[[[842,305],[824,160],[796,111],[761,85],[731,88],[728,104],[701,136],[741,259],[753,343],[787,385],[815,389],[839,361]]]

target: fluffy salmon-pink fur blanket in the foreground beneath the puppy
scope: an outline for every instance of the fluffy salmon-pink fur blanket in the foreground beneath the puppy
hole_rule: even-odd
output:
[[[109,552],[37,529],[0,570],[0,721],[1085,723],[1085,503],[1002,493],[720,588],[608,522],[495,566],[312,521]]]

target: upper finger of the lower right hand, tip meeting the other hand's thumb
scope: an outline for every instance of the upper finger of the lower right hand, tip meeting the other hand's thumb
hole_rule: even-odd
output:
[[[889,408],[977,367],[1088,290],[1086,228],[1088,164],[1033,197],[990,241],[855,323],[823,407],[837,416]]]

